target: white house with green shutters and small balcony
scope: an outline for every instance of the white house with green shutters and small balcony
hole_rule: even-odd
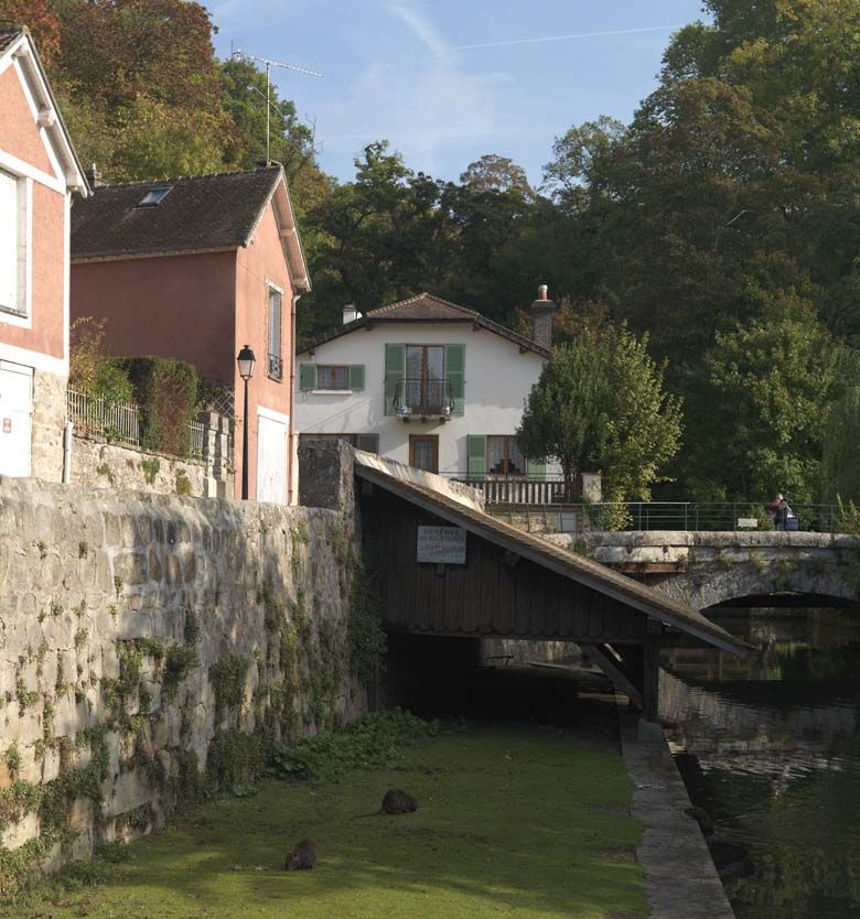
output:
[[[527,338],[429,293],[364,316],[346,307],[341,328],[300,346],[297,430],[464,479],[556,479],[514,440],[555,310],[541,286]]]

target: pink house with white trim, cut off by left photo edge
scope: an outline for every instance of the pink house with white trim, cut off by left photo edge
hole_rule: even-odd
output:
[[[26,29],[0,29],[0,475],[63,478],[72,195],[89,190]]]

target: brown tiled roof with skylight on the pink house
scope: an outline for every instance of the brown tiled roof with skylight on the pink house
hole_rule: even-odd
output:
[[[280,166],[97,188],[72,208],[72,258],[238,249],[281,176]],[[170,188],[141,207],[147,192]]]

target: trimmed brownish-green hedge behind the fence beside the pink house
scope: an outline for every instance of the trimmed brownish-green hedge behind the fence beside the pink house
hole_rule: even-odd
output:
[[[197,374],[191,364],[172,357],[128,357],[122,367],[140,406],[141,445],[186,456],[189,425],[197,404]],[[176,482],[179,489],[179,480]]]

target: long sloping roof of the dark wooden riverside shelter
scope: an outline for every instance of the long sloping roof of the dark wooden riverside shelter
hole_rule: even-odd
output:
[[[379,468],[377,463],[373,466],[366,465],[361,454],[356,454],[355,473],[361,479],[384,488],[454,526],[462,527],[509,552],[591,587],[708,645],[739,657],[745,657],[752,650],[751,645],[730,635],[716,623],[711,623],[698,609],[671,599],[659,591],[604,567],[598,562],[517,530],[508,523],[496,520],[430,487],[419,485],[415,480],[395,477]]]

